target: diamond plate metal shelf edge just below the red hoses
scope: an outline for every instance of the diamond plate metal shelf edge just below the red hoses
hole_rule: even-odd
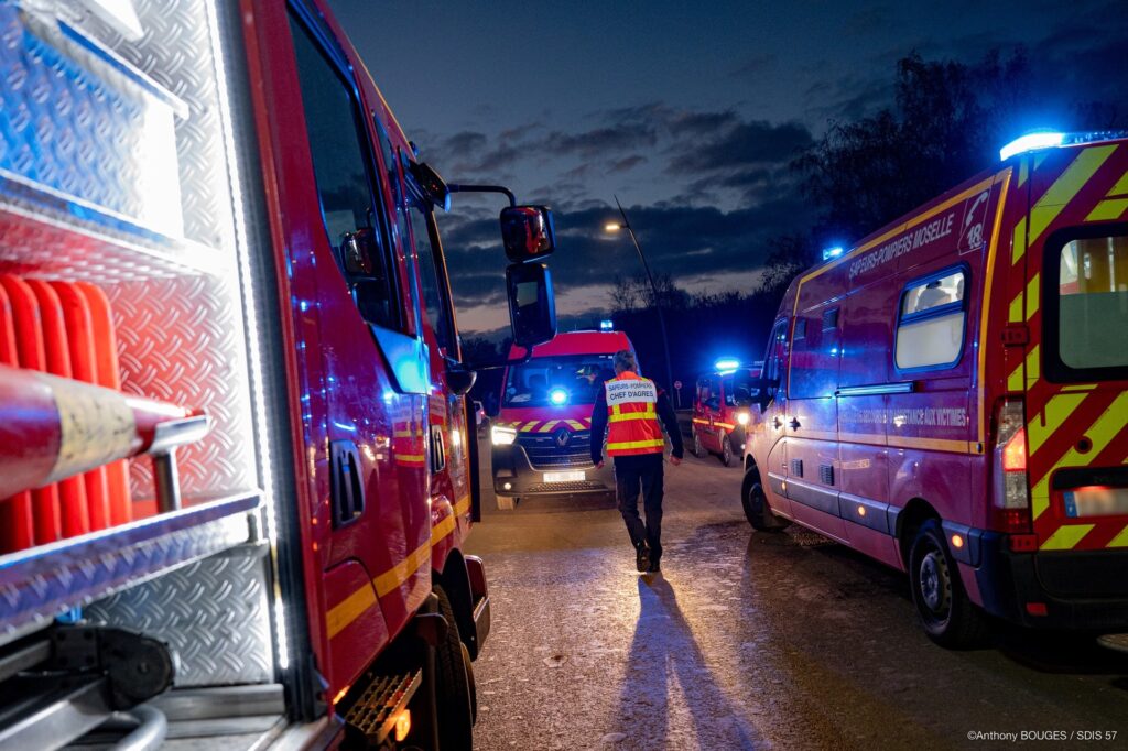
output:
[[[183,563],[247,541],[244,513],[257,494],[236,496],[0,557],[0,644]]]

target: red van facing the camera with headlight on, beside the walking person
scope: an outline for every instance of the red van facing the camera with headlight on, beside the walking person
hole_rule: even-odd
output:
[[[634,352],[623,332],[570,332],[506,369],[490,427],[499,509],[529,496],[615,493],[610,463],[591,463],[591,410],[603,383],[615,378],[619,350]],[[510,359],[522,354],[514,346]]]

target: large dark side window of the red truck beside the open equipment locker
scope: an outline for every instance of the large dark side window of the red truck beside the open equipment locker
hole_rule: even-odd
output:
[[[298,60],[302,112],[314,160],[325,233],[361,317],[399,327],[394,266],[388,259],[382,217],[373,195],[372,154],[352,85],[321,52],[306,27],[290,17]]]

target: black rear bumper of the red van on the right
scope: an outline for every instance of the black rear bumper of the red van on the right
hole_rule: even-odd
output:
[[[979,530],[968,540],[958,558],[977,558],[971,571],[987,612],[1030,628],[1128,628],[1128,550],[1013,553],[1006,534]],[[1046,615],[1031,615],[1028,603],[1043,603]]]

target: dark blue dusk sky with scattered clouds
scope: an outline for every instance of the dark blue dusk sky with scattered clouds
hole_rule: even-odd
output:
[[[423,160],[554,207],[562,328],[640,271],[601,230],[614,194],[656,273],[691,292],[754,285],[766,239],[809,220],[787,162],[888,105],[913,51],[970,63],[1025,45],[1054,86],[1016,135],[1077,99],[1128,107],[1122,2],[329,5]],[[500,205],[456,196],[440,219],[472,334],[506,321]]]

